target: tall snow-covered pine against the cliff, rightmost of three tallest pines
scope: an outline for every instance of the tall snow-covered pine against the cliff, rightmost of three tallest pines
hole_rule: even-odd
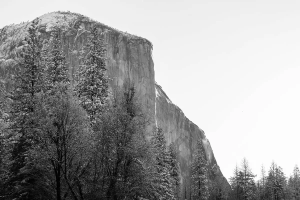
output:
[[[105,75],[104,39],[100,38],[97,26],[93,25],[85,46],[83,64],[75,75],[74,90],[90,121],[95,122],[95,114],[101,110],[108,97],[108,77]]]

